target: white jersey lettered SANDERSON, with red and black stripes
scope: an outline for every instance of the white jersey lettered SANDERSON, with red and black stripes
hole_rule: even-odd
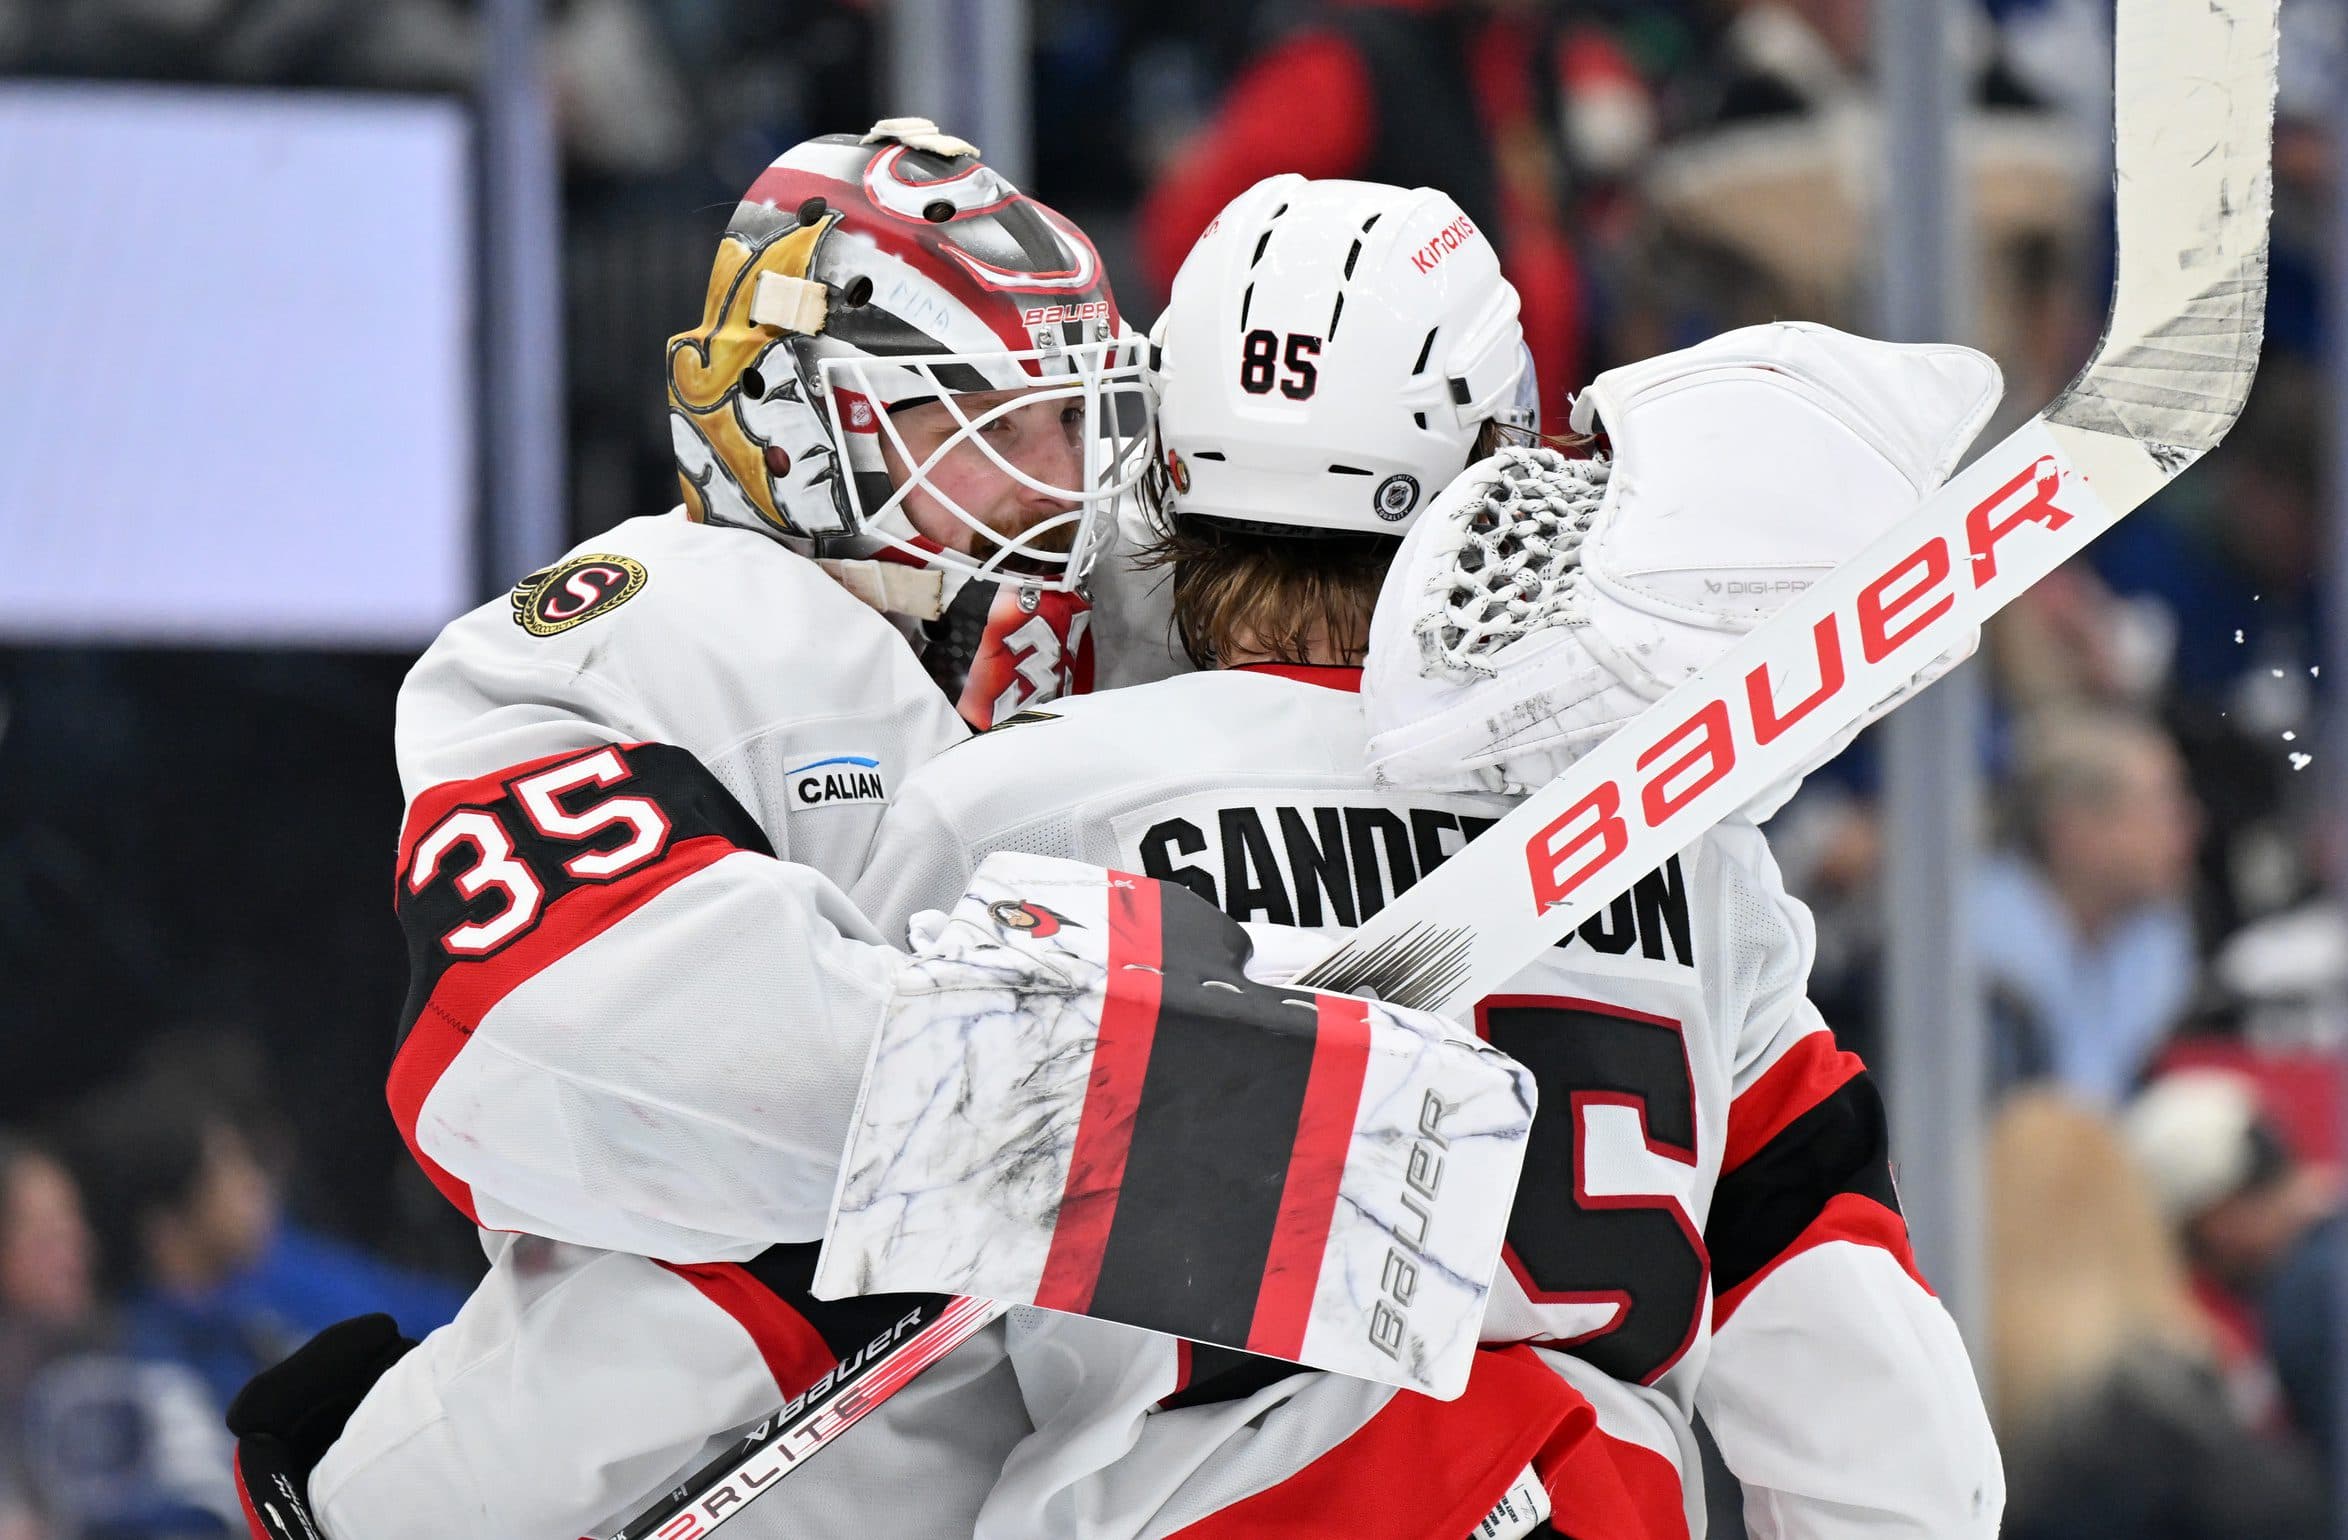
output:
[[[1355,925],[1507,810],[1371,786],[1357,678],[1237,669],[1033,711],[906,782],[857,904],[895,937],[984,852],[1028,850],[1179,880],[1240,920]],[[1402,1540],[1489,1507],[1524,1463],[1564,1533],[1700,1533],[1681,1491],[1698,1409],[1756,1535],[1996,1533],[1982,1399],[1916,1272],[1881,1101],[1806,1000],[1810,951],[1761,831],[1733,822],[1475,1007],[1543,1106],[1484,1336],[1538,1345],[1580,1392],[1604,1472],[1592,1439],[1543,1437],[1529,1348],[1486,1376],[1517,1376],[1514,1411],[1472,1385],[1444,1420],[1421,1397],[1021,1312],[1038,1432],[979,1533],[1235,1535],[1310,1514]],[[1428,1439],[1444,1460],[1406,1458]],[[1322,1460],[1338,1446],[1357,1458]]]

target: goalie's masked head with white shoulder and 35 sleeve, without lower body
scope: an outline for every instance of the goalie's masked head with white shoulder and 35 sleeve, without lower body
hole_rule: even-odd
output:
[[[460,1209],[679,1261],[822,1228],[838,1021],[897,965],[834,883],[965,718],[1085,685],[1143,401],[1092,244],[963,141],[892,120],[751,185],[669,343],[686,507],[399,695],[390,1101]]]

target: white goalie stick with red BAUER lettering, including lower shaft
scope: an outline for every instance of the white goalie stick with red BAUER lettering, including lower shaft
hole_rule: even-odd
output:
[[[1491,993],[2219,444],[2266,322],[2278,0],[2120,0],[2118,268],[2036,418],[1364,923],[1298,984]],[[700,1540],[1007,1308],[913,1312],[610,1540]]]

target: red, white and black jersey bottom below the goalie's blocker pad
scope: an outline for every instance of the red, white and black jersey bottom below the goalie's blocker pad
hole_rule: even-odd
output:
[[[1010,1357],[1035,1432],[979,1540],[1066,1533],[1071,1512],[1089,1540],[1449,1540],[1500,1528],[1479,1521],[1519,1481],[1543,1486],[1550,1526],[1505,1533],[1688,1535],[1693,1446],[1550,1350],[1479,1350],[1449,1401],[1270,1359],[1216,1373],[1242,1355],[1043,1310],[1012,1312]]]

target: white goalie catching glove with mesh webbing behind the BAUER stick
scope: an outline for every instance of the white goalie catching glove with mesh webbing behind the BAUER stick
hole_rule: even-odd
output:
[[[1500,451],[1404,540],[1362,678],[1371,763],[1430,789],[1552,779],[1909,514],[2000,394],[1970,347],[1806,322],[1601,373],[1573,427],[1611,458]]]

